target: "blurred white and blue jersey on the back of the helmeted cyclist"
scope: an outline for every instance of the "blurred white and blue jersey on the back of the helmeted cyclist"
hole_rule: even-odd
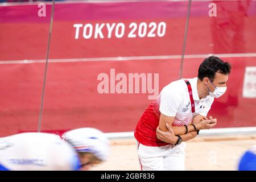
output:
[[[0,138],[0,170],[77,170],[79,156],[58,135],[22,133]]]

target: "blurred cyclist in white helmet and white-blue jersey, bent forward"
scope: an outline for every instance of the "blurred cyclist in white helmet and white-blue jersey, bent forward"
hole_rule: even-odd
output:
[[[109,141],[100,130],[75,129],[62,137],[22,133],[1,138],[0,170],[85,170],[108,158]]]

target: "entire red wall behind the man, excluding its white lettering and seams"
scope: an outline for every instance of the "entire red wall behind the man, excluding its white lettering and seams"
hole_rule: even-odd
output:
[[[242,97],[245,67],[256,66],[256,1],[216,2],[221,11],[208,15],[209,2],[192,2],[183,77],[196,77],[204,54],[228,54],[232,64],[228,91],[214,101],[211,115],[217,127],[255,126],[255,98]],[[91,57],[181,55],[187,2],[57,3],[52,30],[42,130],[97,127],[106,132],[133,131],[150,104],[148,93],[100,94],[100,73],[158,73],[159,92],[179,78],[180,57],[135,57],[124,61],[81,61]],[[232,7],[232,8],[230,8]],[[38,6],[0,6],[0,137],[35,131],[42,92],[51,6],[39,17]],[[135,22],[166,23],[162,37],[128,38]],[[73,24],[123,23],[122,38],[75,39]],[[148,29],[147,35],[151,29]],[[234,55],[232,53],[243,53]],[[246,55],[245,53],[254,53]],[[197,55],[197,56],[196,56]],[[16,60],[33,60],[22,64]],[[67,59],[69,59],[67,61]],[[75,61],[80,59],[80,61]],[[84,59],[85,60],[85,59]],[[113,58],[115,60],[115,58]],[[12,62],[13,61],[13,62]],[[64,63],[63,61],[67,61]]]

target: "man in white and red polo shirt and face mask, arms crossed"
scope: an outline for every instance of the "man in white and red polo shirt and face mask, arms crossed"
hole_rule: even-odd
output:
[[[226,91],[229,63],[210,56],[198,76],[171,82],[142,114],[134,137],[142,170],[184,170],[185,141],[199,130],[210,129],[217,119],[207,118],[214,98]]]

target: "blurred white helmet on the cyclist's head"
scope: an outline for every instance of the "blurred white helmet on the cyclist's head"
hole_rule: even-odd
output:
[[[109,140],[100,130],[85,127],[67,131],[62,138],[70,143],[77,152],[90,152],[105,161],[109,156]]]

